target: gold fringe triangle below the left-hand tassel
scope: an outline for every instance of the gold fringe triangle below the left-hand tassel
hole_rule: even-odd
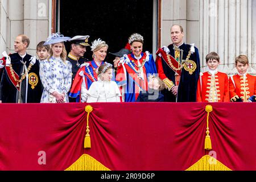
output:
[[[76,160],[70,167],[65,171],[111,171],[103,164],[98,162],[92,156],[83,154],[79,159]]]

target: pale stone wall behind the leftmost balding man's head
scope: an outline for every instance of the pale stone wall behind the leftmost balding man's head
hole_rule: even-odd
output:
[[[27,52],[36,53],[36,45],[49,35],[48,0],[1,0],[0,53],[14,52],[17,35],[25,34],[30,38]]]

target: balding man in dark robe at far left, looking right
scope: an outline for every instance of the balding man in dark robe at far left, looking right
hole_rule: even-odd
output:
[[[16,53],[3,52],[0,84],[0,103],[39,103],[42,84],[39,77],[39,61],[26,52],[30,39],[18,35],[14,41]]]

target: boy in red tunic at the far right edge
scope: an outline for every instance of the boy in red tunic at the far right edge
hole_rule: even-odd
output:
[[[255,102],[256,77],[247,73],[249,61],[247,56],[236,57],[237,75],[229,78],[229,94],[232,102]]]

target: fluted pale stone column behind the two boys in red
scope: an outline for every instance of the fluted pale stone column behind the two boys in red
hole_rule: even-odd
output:
[[[214,51],[220,55],[220,71],[228,75],[236,73],[234,59],[243,54],[249,57],[252,65],[249,72],[254,72],[252,10],[253,5],[256,6],[255,1],[200,0],[200,4],[200,34],[203,35],[200,39],[201,71],[207,68],[205,56]]]

